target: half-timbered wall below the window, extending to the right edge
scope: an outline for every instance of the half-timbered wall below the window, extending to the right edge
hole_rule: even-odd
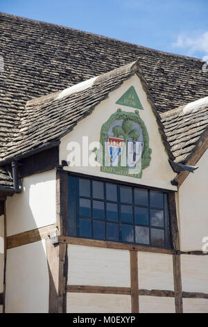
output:
[[[208,312],[207,255],[60,241],[69,262],[67,312]]]

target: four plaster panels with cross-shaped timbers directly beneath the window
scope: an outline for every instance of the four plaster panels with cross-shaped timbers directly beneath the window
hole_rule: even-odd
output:
[[[67,252],[67,312],[175,312],[171,254],[71,244]]]

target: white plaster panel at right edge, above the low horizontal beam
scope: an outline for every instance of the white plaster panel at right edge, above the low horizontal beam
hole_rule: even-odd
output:
[[[181,255],[182,290],[208,293],[208,256]]]

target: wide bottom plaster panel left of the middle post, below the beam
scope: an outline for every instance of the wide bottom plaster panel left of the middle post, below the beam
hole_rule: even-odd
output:
[[[120,294],[67,293],[67,313],[131,312],[131,296]]]

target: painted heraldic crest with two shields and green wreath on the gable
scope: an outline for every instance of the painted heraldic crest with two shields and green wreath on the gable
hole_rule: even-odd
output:
[[[150,165],[148,131],[138,110],[113,113],[101,127],[100,143],[102,147],[94,152],[105,173],[141,178]]]

